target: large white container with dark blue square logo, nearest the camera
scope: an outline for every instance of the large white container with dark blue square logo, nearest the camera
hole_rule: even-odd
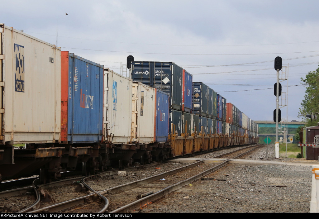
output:
[[[61,50],[0,24],[2,144],[58,142]]]

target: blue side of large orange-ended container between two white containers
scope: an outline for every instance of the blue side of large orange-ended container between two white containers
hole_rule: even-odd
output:
[[[103,65],[68,54],[67,139],[69,143],[102,140],[103,72]]]

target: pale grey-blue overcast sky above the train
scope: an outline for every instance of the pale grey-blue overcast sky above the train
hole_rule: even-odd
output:
[[[281,82],[283,92],[289,85],[289,121],[301,120],[300,77],[318,68],[315,0],[12,0],[1,8],[0,23],[118,73],[128,55],[175,62],[253,120],[272,120],[276,56],[289,64]],[[287,107],[281,111],[287,118]]]

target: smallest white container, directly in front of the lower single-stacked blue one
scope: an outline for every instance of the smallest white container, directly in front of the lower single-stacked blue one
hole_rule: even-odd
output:
[[[134,82],[131,124],[133,142],[154,142],[155,105],[155,88]]]

